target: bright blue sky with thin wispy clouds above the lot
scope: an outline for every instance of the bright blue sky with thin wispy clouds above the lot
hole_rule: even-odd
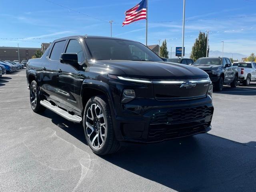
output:
[[[122,27],[124,12],[139,2],[0,0],[0,38],[7,38],[0,39],[0,46],[19,43],[20,47],[40,47],[41,42],[76,34],[110,36],[109,20],[114,20],[114,37],[145,43],[145,20]],[[148,44],[166,39],[169,51],[181,46],[183,0],[148,0],[148,4]],[[224,52],[256,52],[255,7],[256,0],[186,0],[186,53],[191,51],[198,32],[207,29],[211,30],[210,50],[221,51],[223,40]],[[248,17],[230,18],[240,16]]]

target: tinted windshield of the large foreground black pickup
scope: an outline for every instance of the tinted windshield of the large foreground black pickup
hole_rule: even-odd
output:
[[[163,61],[138,42],[107,38],[85,38],[85,41],[96,60]]]

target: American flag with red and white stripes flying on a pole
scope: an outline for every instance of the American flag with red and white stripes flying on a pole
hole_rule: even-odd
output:
[[[125,14],[125,20],[122,26],[130,24],[134,21],[146,19],[147,18],[147,0],[142,0],[139,4],[127,10],[124,14]]]

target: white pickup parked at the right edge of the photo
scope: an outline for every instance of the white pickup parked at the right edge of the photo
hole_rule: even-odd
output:
[[[256,62],[234,62],[233,66],[238,67],[238,80],[245,86],[256,81]]]

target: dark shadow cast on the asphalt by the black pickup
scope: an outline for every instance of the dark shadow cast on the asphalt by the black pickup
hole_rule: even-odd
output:
[[[86,144],[82,125],[50,110],[42,115]],[[239,143],[198,134],[155,144],[128,143],[125,150],[100,158],[179,192],[256,191],[255,141]]]

